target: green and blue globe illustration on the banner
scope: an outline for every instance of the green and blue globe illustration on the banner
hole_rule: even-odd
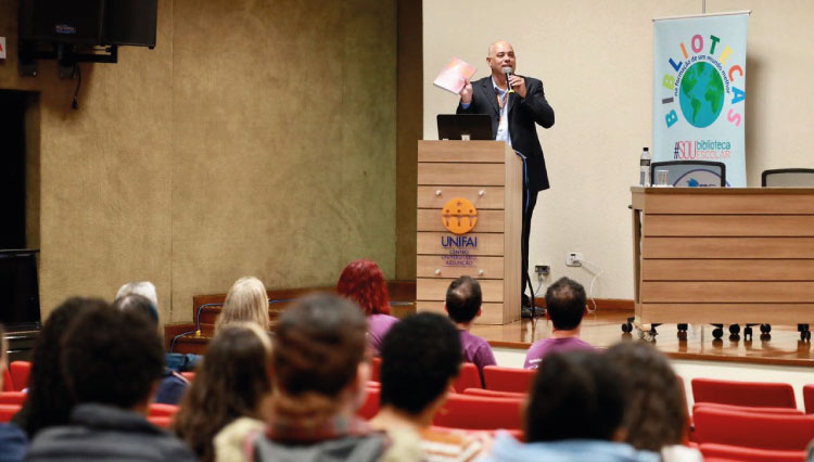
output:
[[[715,66],[704,62],[691,65],[682,79],[678,102],[691,126],[703,128],[715,121],[724,107],[724,81]]]

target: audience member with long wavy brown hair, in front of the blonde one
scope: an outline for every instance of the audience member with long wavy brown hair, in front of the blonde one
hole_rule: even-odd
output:
[[[232,324],[209,342],[195,380],[176,414],[175,432],[202,462],[215,457],[214,438],[245,418],[249,428],[263,428],[264,405],[271,394],[271,341],[257,324]]]

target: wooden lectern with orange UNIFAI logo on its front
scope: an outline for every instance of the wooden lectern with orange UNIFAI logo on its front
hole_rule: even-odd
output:
[[[481,324],[520,319],[523,163],[503,141],[418,142],[416,306],[444,312],[449,283],[481,283]],[[471,229],[470,229],[471,228]]]

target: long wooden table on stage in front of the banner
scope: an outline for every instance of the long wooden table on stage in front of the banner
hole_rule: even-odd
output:
[[[814,321],[814,189],[631,190],[641,323]]]

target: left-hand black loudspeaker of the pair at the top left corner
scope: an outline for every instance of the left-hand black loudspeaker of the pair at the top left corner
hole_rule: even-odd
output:
[[[20,13],[23,40],[101,42],[104,0],[22,0]]]

